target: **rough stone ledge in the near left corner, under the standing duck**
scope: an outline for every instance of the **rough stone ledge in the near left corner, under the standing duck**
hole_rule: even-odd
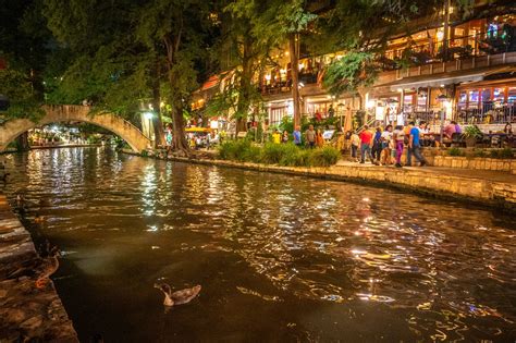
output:
[[[30,234],[0,195],[0,342],[78,342],[52,281],[8,279],[38,259]]]

